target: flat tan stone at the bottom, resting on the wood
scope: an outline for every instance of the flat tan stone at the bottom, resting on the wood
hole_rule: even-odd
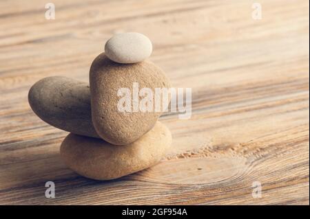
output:
[[[74,172],[96,180],[119,178],[155,165],[171,146],[172,136],[161,122],[127,146],[70,134],[61,143],[61,158]]]

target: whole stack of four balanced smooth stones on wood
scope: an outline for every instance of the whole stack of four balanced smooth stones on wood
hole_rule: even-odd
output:
[[[143,34],[116,34],[105,44],[105,53],[92,62],[90,86],[54,76],[30,89],[28,100],[34,113],[71,132],[60,152],[74,172],[110,180],[149,168],[165,156],[172,136],[157,121],[163,110],[136,111],[131,106],[120,111],[118,106],[120,91],[132,91],[134,84],[152,91],[170,87],[163,70],[146,60],[151,53],[152,43]],[[136,101],[133,95],[126,101]]]

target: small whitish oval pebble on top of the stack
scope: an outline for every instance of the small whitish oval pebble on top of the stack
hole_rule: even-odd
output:
[[[118,63],[141,62],[151,56],[152,42],[147,36],[129,32],[116,34],[105,43],[105,54]]]

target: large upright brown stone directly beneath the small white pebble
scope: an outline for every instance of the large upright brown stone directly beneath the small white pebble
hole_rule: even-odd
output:
[[[118,64],[100,54],[90,68],[90,93],[92,122],[98,135],[112,144],[126,145],[136,141],[150,130],[162,112],[118,111],[118,89],[128,88],[133,93],[133,83],[139,89],[170,87],[163,70],[152,62]],[[132,95],[133,96],[133,95]],[[133,105],[133,98],[131,103]],[[155,95],[153,97],[155,103]],[[155,105],[155,104],[154,104]],[[133,110],[133,108],[132,108]]]

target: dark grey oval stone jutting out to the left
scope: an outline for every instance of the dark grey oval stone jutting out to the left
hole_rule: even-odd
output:
[[[32,111],[44,122],[78,135],[99,137],[92,125],[90,86],[54,76],[36,82],[28,93]]]

